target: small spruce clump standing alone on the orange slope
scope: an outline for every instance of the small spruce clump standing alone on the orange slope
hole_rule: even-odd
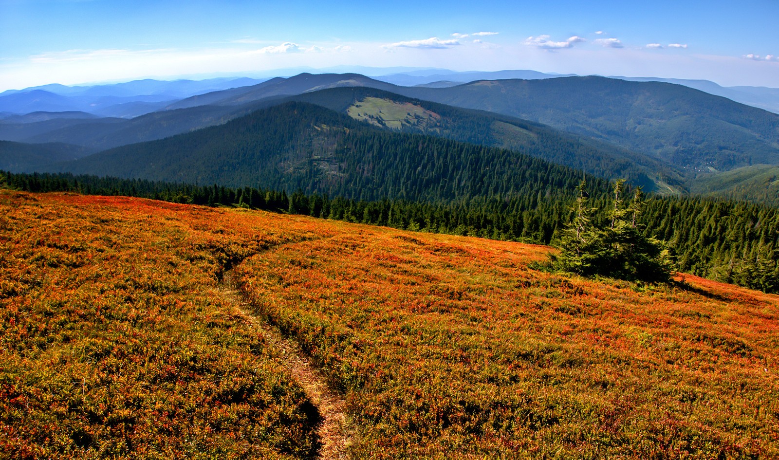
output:
[[[553,267],[583,276],[668,282],[668,249],[656,238],[644,236],[638,223],[644,206],[641,188],[636,188],[632,202],[626,205],[625,181],[616,181],[605,224],[598,227],[593,224],[597,209],[587,206],[586,186],[586,181],[582,181],[576,188],[573,219],[559,240],[559,255],[552,256]]]

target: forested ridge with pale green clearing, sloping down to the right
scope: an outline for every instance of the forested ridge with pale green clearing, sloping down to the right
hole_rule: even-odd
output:
[[[513,149],[597,177],[626,177],[647,191],[668,193],[684,181],[683,170],[652,156],[492,112],[464,110],[361,87],[321,90],[289,99],[328,107],[394,131]]]

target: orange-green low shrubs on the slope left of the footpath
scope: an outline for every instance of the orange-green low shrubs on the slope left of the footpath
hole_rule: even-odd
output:
[[[311,403],[217,289],[295,235],[240,218],[0,191],[0,458],[314,455]]]

